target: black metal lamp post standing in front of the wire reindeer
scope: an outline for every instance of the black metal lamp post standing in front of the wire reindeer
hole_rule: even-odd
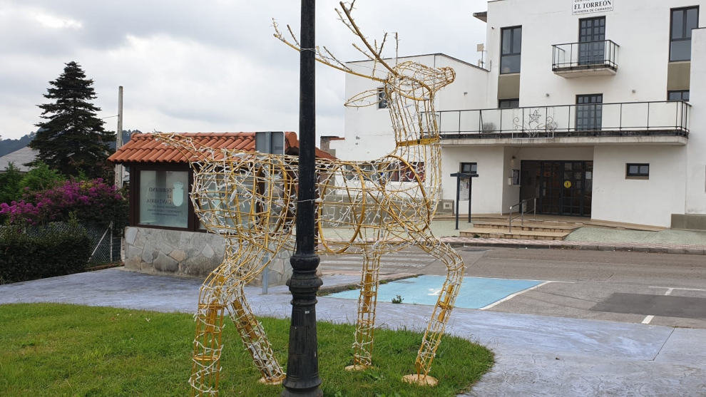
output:
[[[316,293],[322,282],[316,274],[319,257],[314,250],[316,200],[316,108],[314,106],[314,6],[302,0],[299,97],[299,192],[297,197],[297,250],[292,258],[292,323],[283,397],[322,396],[316,334]]]

